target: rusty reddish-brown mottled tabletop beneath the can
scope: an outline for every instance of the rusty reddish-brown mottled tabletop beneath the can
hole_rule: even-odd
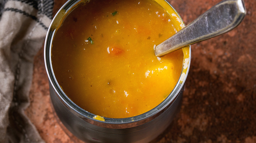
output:
[[[169,0],[189,24],[220,0]],[[54,12],[65,1],[55,1]],[[191,46],[192,60],[181,111],[152,142],[256,143],[256,1],[232,31]],[[54,14],[55,14],[54,13]],[[35,57],[25,111],[47,143],[79,142],[62,130],[50,104],[43,47]]]

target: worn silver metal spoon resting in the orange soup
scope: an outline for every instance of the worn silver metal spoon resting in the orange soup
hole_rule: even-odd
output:
[[[164,56],[182,47],[226,33],[241,23],[245,13],[243,0],[223,0],[157,45],[155,55]]]

